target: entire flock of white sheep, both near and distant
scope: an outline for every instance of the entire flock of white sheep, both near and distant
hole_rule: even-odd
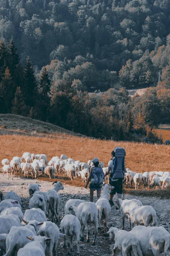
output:
[[[10,165],[7,159],[4,159],[2,161],[4,164],[3,172],[7,170],[7,173],[11,172],[12,176],[13,171],[17,173],[17,170],[20,171],[21,169],[25,176],[30,171],[35,177],[41,172],[41,174],[44,173],[51,178],[55,172],[64,171],[70,178],[76,177],[80,173],[82,180],[87,180],[87,175],[81,173],[84,170],[89,170],[90,161],[88,164],[75,162],[72,159],[66,161],[64,159],[66,156],[62,155],[60,158],[53,157],[50,163],[45,155],[28,154],[30,153],[24,153],[22,158],[14,157]],[[25,160],[23,165],[22,160]],[[13,165],[13,163],[16,164]],[[49,163],[50,165],[48,165]],[[25,167],[28,165],[29,169],[26,169]],[[100,165],[102,166],[102,162]],[[42,166],[44,167],[43,170]],[[89,175],[88,171],[85,173]],[[127,169],[125,180],[130,186],[133,179],[136,188],[142,180],[145,186],[149,184],[148,180],[150,179],[150,186],[153,186],[154,176],[159,178],[166,176],[165,172],[162,174],[152,173],[150,177],[144,174],[132,175],[132,173]],[[79,241],[84,241],[84,230],[87,231],[86,242],[90,242],[89,225],[94,226],[92,245],[95,245],[97,231],[98,228],[101,228],[102,220],[104,220],[105,235],[110,236],[110,239],[115,241],[112,256],[116,254],[117,248],[122,251],[123,256],[130,256],[132,251],[135,256],[160,256],[161,253],[166,256],[167,250],[170,250],[170,233],[164,227],[158,227],[156,211],[151,206],[143,206],[141,201],[136,199],[118,199],[116,201],[116,209],[120,209],[122,215],[122,230],[111,227],[107,231],[108,219],[111,218],[108,194],[113,189],[108,183],[103,184],[102,196],[96,203],[69,199],[65,204],[60,227],[58,227],[54,223],[54,221],[59,221],[58,191],[63,190],[64,187],[59,181],[55,181],[53,185],[53,189],[48,192],[40,191],[40,185],[37,183],[29,186],[29,209],[24,212],[24,215],[19,195],[11,191],[6,192],[3,198],[3,194],[0,192],[0,255],[56,256],[60,236],[64,236],[64,247],[67,241],[68,254],[71,254],[73,250],[73,237],[76,236],[77,255],[79,255]],[[124,230],[125,218],[130,223],[130,231]]]

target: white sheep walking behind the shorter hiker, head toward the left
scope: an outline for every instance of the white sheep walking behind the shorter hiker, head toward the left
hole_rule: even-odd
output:
[[[81,229],[81,240],[84,240],[84,230],[86,228],[87,235],[86,235],[86,242],[89,243],[89,235],[90,230],[88,224],[94,223],[94,240],[92,245],[95,245],[96,236],[97,236],[97,226],[98,226],[98,209],[96,205],[92,202],[86,202],[79,204],[78,207],[71,206],[69,207],[69,214],[76,215],[80,224],[82,226]]]

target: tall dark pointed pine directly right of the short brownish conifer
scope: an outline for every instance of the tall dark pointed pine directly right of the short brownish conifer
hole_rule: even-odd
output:
[[[25,97],[26,105],[28,105],[29,108],[34,107],[37,96],[37,83],[29,57],[27,57],[26,67],[24,69],[23,94]]]

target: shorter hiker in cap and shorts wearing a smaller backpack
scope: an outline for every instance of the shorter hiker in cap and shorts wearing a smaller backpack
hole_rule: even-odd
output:
[[[101,190],[102,190],[103,181],[105,180],[105,174],[102,168],[99,167],[99,159],[95,157],[92,160],[92,162],[94,164],[94,167],[91,167],[88,181],[85,185],[85,188],[87,189],[88,183],[91,180],[91,183],[89,185],[91,202],[93,202],[93,195],[95,190],[97,190],[97,199],[99,199]]]

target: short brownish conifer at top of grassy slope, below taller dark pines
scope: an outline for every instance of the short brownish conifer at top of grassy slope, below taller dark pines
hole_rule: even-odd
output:
[[[12,106],[13,114],[26,116],[26,113],[27,113],[26,104],[24,102],[24,97],[23,97],[23,94],[21,93],[20,87],[17,87],[12,105],[13,105]]]

